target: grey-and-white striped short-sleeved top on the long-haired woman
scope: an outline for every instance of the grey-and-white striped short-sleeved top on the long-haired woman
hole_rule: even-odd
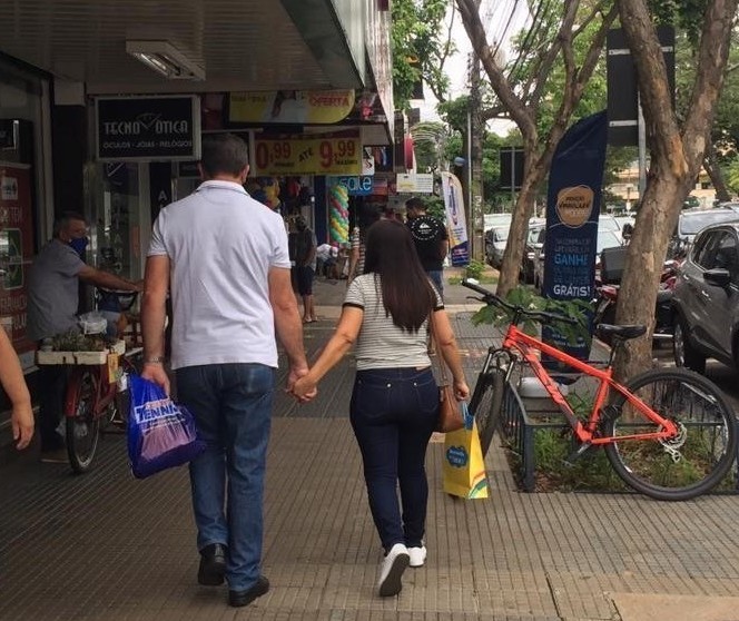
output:
[[[376,274],[363,274],[354,278],[346,290],[344,306],[364,310],[354,352],[357,371],[431,365],[427,349],[428,319],[416,333],[397,327],[393,317],[386,315],[380,277]],[[436,294],[435,310],[442,308],[444,304]]]

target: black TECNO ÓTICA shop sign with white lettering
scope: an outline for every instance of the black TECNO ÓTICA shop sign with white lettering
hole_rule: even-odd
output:
[[[196,96],[98,98],[96,127],[101,161],[200,157],[200,100]]]

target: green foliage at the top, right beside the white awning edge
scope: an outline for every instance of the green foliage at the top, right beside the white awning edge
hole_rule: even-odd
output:
[[[397,109],[407,109],[414,85],[425,85],[443,99],[449,89],[444,61],[454,51],[445,39],[447,0],[393,0],[391,45],[393,97]]]

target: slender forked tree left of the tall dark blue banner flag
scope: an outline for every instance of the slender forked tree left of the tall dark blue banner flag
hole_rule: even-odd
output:
[[[522,187],[511,221],[497,284],[499,295],[518,285],[529,218],[538,191],[549,172],[556,146],[566,131],[601,60],[605,36],[617,17],[611,0],[560,0],[532,4],[532,19],[513,63],[502,66],[491,46],[475,0],[456,0],[460,17],[474,52],[500,106],[518,126],[524,149]],[[561,68],[561,69],[560,69]],[[553,71],[562,71],[558,93],[546,85]],[[545,114],[546,127],[541,116]]]

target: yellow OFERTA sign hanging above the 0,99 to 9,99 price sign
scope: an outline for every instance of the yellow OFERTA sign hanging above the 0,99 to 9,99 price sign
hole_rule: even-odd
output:
[[[334,124],[354,108],[354,90],[231,92],[228,120],[264,124]]]

